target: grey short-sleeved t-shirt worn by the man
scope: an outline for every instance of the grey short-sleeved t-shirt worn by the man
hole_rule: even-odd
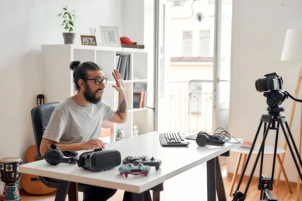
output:
[[[113,116],[114,110],[103,100],[83,107],[67,97],[52,112],[43,138],[59,144],[87,142],[99,138],[103,120]]]

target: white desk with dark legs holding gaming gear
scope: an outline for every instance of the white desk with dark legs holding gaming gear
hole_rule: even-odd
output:
[[[154,186],[162,184],[165,180],[204,162],[207,162],[208,177],[215,178],[215,175],[218,178],[219,175],[221,177],[221,172],[219,175],[217,175],[218,172],[215,172],[215,166],[218,167],[217,165],[219,165],[217,164],[219,163],[218,156],[225,152],[229,152],[231,149],[239,145],[226,143],[223,147],[208,145],[205,147],[199,147],[195,141],[191,141],[191,144],[188,147],[162,147],[159,141],[159,134],[160,132],[152,132],[106,144],[106,149],[118,149],[121,153],[122,160],[126,156],[140,155],[147,155],[149,157],[154,156],[156,159],[161,159],[162,165],[160,169],[156,170],[155,167],[152,167],[151,171],[146,177],[143,175],[131,174],[129,174],[128,177],[125,177],[124,175],[119,174],[118,167],[111,170],[93,172],[79,168],[77,164],[71,165],[60,163],[59,165],[52,166],[49,165],[45,160],[20,165],[19,171],[22,173],[35,174],[74,183],[84,183],[113,189],[123,189],[125,191],[142,194],[142,192],[148,191]],[[243,142],[242,139],[238,140],[241,143]],[[83,150],[79,151],[78,153],[80,155],[86,151],[91,150]],[[208,200],[215,200],[215,188],[217,187],[215,184],[215,179],[208,179]],[[220,184],[221,183],[219,183],[219,185]],[[67,185],[65,188],[67,188]],[[223,193],[225,196],[225,192]],[[214,196],[214,198],[210,198],[212,196]]]

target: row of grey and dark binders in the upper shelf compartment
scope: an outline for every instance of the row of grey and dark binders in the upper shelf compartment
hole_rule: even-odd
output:
[[[115,55],[116,69],[121,73],[123,80],[130,79],[130,54],[116,54]]]

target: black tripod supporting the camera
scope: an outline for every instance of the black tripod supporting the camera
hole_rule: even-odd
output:
[[[291,97],[292,99],[294,99],[294,100],[296,100],[298,102],[302,102],[302,100],[296,99],[295,97],[293,97],[292,95],[290,95],[290,93],[287,92],[287,91],[282,92],[282,93],[284,93],[283,95],[285,95],[286,97],[289,96],[289,97]],[[302,174],[301,174],[300,169],[298,168],[298,163],[297,163],[297,160],[296,160],[296,158],[294,156],[292,147],[291,147],[291,145],[289,143],[289,139],[288,139],[288,137],[286,135],[286,131],[285,131],[283,123],[285,123],[285,126],[286,126],[286,129],[288,131],[290,140],[292,141],[293,148],[294,148],[294,150],[296,152],[296,155],[298,157],[298,160],[299,160],[299,163],[300,163],[301,166],[302,166],[302,160],[301,160],[301,157],[299,156],[298,149],[297,149],[297,147],[295,145],[295,142],[293,140],[293,137],[292,137],[291,131],[289,129],[289,126],[287,124],[287,120],[285,118],[285,115],[284,114],[280,114],[280,112],[284,112],[284,108],[281,108],[281,106],[278,105],[277,107],[274,107],[274,108],[267,107],[267,111],[268,111],[268,114],[263,114],[262,115],[262,118],[261,118],[261,121],[260,121],[260,125],[258,127],[255,139],[253,141],[253,144],[252,144],[250,153],[248,155],[246,164],[244,166],[242,175],[240,177],[238,186],[237,186],[235,192],[233,193],[234,197],[233,197],[232,201],[245,200],[245,198],[247,196],[248,188],[250,186],[253,174],[255,172],[255,168],[257,166],[257,163],[258,163],[258,160],[259,160],[259,157],[260,157],[260,154],[261,154],[261,161],[260,161],[260,173],[259,173],[259,181],[258,181],[258,189],[261,190],[261,192],[260,192],[260,200],[278,200],[276,197],[273,197],[271,195],[270,190],[273,189],[273,182],[274,182],[274,170],[275,170],[275,161],[276,161],[276,151],[277,151],[277,143],[278,143],[279,126],[281,126],[281,128],[282,128],[282,131],[283,131],[284,137],[286,139],[286,142],[288,144],[288,148],[289,148],[290,153],[292,155],[294,164],[295,164],[295,166],[296,166],[296,168],[298,170],[300,179],[302,180]],[[252,169],[252,172],[251,172],[248,184],[247,184],[246,189],[245,189],[245,191],[243,193],[243,192],[239,191],[239,188],[240,188],[241,182],[243,180],[243,176],[244,176],[245,171],[247,169],[250,157],[252,155],[252,151],[254,149],[254,146],[255,146],[255,143],[257,141],[258,134],[260,132],[260,129],[261,129],[261,126],[262,126],[263,122],[264,122],[263,140],[262,140],[259,152],[257,154],[257,158],[256,158],[255,164],[253,166],[253,169]],[[276,122],[277,122],[277,126],[276,126]],[[268,123],[268,125],[267,125],[267,123]],[[265,140],[266,140],[266,137],[267,137],[267,134],[268,134],[269,130],[276,130],[276,139],[275,139],[275,147],[274,147],[274,155],[273,155],[273,166],[272,166],[272,174],[271,174],[270,178],[262,176],[264,145],[265,145]]]

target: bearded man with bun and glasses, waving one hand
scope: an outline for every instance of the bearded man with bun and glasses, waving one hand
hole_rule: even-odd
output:
[[[73,61],[73,82],[77,94],[63,99],[51,114],[43,134],[40,153],[45,154],[46,144],[55,143],[61,151],[79,151],[83,149],[105,149],[99,140],[102,121],[123,124],[127,121],[127,99],[121,74],[114,69],[112,76],[116,82],[113,87],[118,91],[118,109],[114,111],[102,100],[107,78],[102,69],[93,62]],[[79,189],[88,189],[84,201],[102,201],[113,196],[116,189],[90,186],[79,183]],[[124,193],[124,200],[131,198],[131,193]]]

